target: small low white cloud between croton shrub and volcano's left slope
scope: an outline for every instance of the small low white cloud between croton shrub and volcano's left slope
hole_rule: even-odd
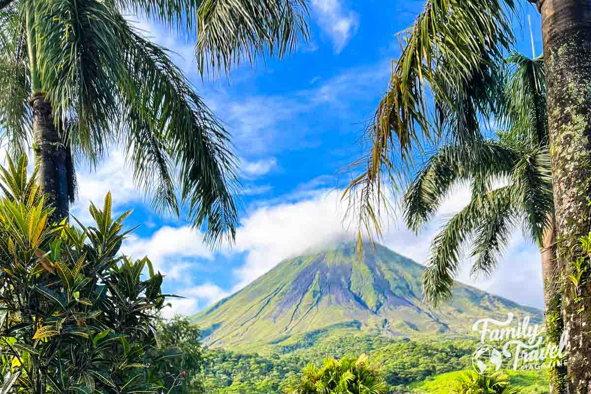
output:
[[[164,317],[170,318],[175,314],[196,314],[208,305],[211,305],[222,298],[228,297],[230,294],[223,291],[223,289],[217,285],[205,283],[203,285],[183,289],[179,292],[179,295],[186,298],[167,299],[167,301],[170,302],[171,307],[164,308]]]

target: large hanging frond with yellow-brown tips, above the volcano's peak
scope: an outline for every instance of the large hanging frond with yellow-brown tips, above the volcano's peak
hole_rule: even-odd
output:
[[[370,149],[352,166],[364,167],[348,189],[366,191],[356,206],[379,204],[382,182],[400,168],[411,172],[424,142],[449,136],[466,144],[465,154],[482,140],[480,118],[499,112],[503,53],[514,43],[507,11],[514,8],[513,0],[428,1],[401,38],[388,92],[366,131]]]

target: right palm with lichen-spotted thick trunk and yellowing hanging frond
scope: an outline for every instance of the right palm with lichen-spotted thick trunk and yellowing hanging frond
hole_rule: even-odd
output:
[[[530,2],[534,2],[530,0]],[[547,77],[548,131],[552,162],[558,269],[587,258],[579,240],[589,233],[587,212],[591,178],[591,2],[537,0],[542,15]],[[412,173],[421,145],[439,135],[462,142],[462,158],[473,159],[482,141],[480,121],[499,115],[498,81],[503,56],[515,44],[510,17],[515,0],[427,0],[405,32],[405,47],[392,72],[388,92],[366,137],[370,149],[353,165],[361,167],[345,197],[358,215],[359,229],[375,229],[385,201],[384,182],[400,184]],[[361,238],[361,234],[360,237]],[[584,281],[583,281],[584,282]],[[579,282],[580,283],[580,282]],[[563,317],[569,331],[569,390],[591,392],[591,332],[584,329],[584,304],[591,286],[566,284]]]

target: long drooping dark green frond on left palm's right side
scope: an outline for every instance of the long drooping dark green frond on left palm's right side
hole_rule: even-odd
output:
[[[119,126],[135,179],[156,209],[178,213],[178,194],[190,222],[206,226],[206,242],[233,239],[238,181],[228,133],[163,48],[131,28],[125,48]]]

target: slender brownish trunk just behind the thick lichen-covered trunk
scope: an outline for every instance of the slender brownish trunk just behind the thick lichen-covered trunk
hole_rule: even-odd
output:
[[[540,254],[542,258],[542,278],[544,281],[544,316],[550,341],[560,343],[564,325],[560,314],[560,292],[558,292],[558,269],[556,256],[556,217],[550,217],[551,226],[544,230]],[[564,377],[566,366],[554,366],[548,370],[550,394],[566,393]]]

